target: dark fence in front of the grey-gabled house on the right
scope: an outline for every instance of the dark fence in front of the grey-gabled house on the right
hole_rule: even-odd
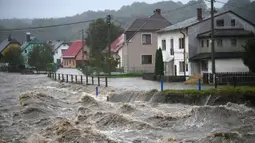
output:
[[[204,73],[203,83],[214,83],[213,74]],[[255,74],[250,72],[224,72],[215,74],[215,83],[217,85],[255,85]]]

